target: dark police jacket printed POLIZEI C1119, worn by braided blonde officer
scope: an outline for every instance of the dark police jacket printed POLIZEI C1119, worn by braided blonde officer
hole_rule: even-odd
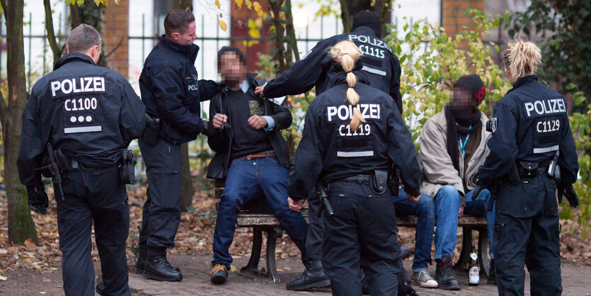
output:
[[[287,192],[294,199],[307,198],[316,183],[330,183],[347,176],[400,166],[405,189],[419,195],[420,168],[415,144],[388,94],[368,86],[357,76],[357,104],[365,123],[350,130],[352,108],[346,99],[345,72],[335,74],[334,87],[317,96],[308,108],[304,133],[295,154]]]

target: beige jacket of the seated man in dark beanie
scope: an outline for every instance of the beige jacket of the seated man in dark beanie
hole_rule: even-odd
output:
[[[423,182],[420,184],[420,193],[435,198],[437,190],[444,185],[451,185],[459,191],[462,205],[464,205],[465,192],[462,181],[466,181],[466,187],[469,190],[476,188],[478,166],[484,163],[489,152],[486,142],[491,134],[485,128],[487,120],[486,115],[482,113],[482,140],[471,157],[466,171],[464,171],[464,156],[461,152],[459,153],[459,172],[454,169],[452,157],[447,153],[447,121],[444,112],[437,113],[427,120],[420,132],[419,140],[420,162],[424,175]]]

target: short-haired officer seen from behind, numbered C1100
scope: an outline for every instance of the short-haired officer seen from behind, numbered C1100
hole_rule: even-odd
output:
[[[133,171],[127,145],[142,135],[144,104],[123,76],[96,66],[101,35],[93,27],[83,24],[72,30],[67,50],[30,93],[23,112],[18,173],[31,209],[42,213],[47,209],[43,166],[54,164],[52,173],[62,177],[54,178],[54,192],[66,295],[94,295],[93,222],[103,273],[96,292],[130,295],[125,183],[132,177],[122,181],[122,172],[124,167]],[[54,153],[48,153],[47,145]],[[129,161],[123,161],[123,155]]]

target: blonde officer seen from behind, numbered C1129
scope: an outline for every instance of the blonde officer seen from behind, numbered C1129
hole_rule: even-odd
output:
[[[476,189],[488,188],[496,196],[498,292],[524,295],[525,264],[532,295],[561,295],[556,189],[560,199],[565,194],[571,206],[578,204],[572,186],[577,152],[566,100],[534,75],[541,60],[534,43],[512,40],[504,60],[513,88],[494,107],[490,154],[478,169]]]

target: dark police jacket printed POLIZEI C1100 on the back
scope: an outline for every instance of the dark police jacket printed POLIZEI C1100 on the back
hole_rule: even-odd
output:
[[[17,160],[21,183],[42,188],[36,169],[48,143],[83,166],[115,164],[142,135],[145,110],[123,76],[97,67],[87,55],[64,55],[35,83],[23,111]]]

